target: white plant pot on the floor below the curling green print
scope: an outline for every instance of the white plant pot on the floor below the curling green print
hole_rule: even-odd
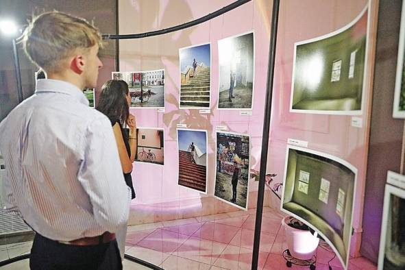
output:
[[[319,238],[313,236],[308,230],[295,229],[288,225],[291,217],[282,219],[286,232],[287,247],[291,256],[301,260],[309,260],[314,256],[319,244]]]

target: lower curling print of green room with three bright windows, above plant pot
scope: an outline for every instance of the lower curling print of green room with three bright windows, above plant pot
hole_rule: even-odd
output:
[[[357,169],[306,148],[286,149],[281,210],[306,223],[332,247],[347,269]]]

